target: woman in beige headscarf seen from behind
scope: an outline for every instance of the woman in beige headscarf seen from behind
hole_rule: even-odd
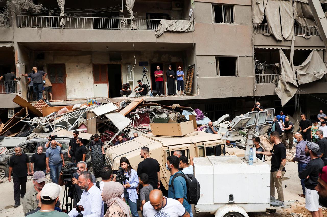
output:
[[[123,193],[124,187],[118,182],[109,181],[105,183],[101,195],[108,210],[104,217],[130,217],[129,206],[121,198]]]

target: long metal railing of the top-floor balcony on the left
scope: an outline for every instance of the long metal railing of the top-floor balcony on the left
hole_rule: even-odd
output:
[[[17,15],[17,27],[19,28],[46,28],[59,29],[59,16],[30,16]],[[65,29],[144,29],[155,30],[159,24],[158,19],[135,19],[132,24],[130,18],[113,17],[69,17]],[[135,26],[136,24],[136,26]]]

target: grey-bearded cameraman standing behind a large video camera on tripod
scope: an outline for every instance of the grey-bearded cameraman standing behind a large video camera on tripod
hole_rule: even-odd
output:
[[[87,171],[87,164],[84,161],[80,161],[77,163],[77,167],[78,167],[78,170],[76,171],[76,173],[73,174],[73,178],[72,178],[72,185],[77,194],[77,195],[74,194],[74,198],[73,198],[74,199],[74,207],[80,200],[82,193],[83,193],[83,190],[81,190],[81,188],[78,186],[78,178],[79,178],[81,172]],[[93,178],[93,184],[95,184],[96,179],[93,174],[92,174],[92,178]],[[65,185],[65,183],[62,181],[62,173],[60,173],[58,184],[61,186]]]

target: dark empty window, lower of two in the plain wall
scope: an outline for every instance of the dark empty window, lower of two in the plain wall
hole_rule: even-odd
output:
[[[218,76],[237,75],[237,57],[216,57]]]

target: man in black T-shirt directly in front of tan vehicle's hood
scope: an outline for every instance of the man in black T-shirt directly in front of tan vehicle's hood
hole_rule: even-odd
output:
[[[149,176],[148,184],[153,189],[160,188],[160,166],[156,159],[150,158],[150,150],[148,147],[142,147],[140,156],[144,160],[137,166],[137,174],[145,173]]]

